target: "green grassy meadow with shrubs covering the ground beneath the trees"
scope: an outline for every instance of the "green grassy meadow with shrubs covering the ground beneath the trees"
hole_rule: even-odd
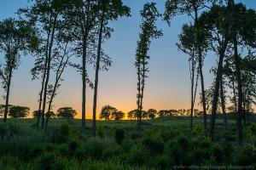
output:
[[[50,119],[44,132],[36,119],[0,119],[0,169],[255,169],[256,123],[243,126],[243,145],[237,144],[235,121],[228,131],[215,127],[214,142],[203,120],[166,116],[143,125],[136,120],[97,121],[96,138],[91,120],[85,133],[81,120]],[[223,122],[223,120],[217,120]],[[209,124],[209,122],[208,122]]]

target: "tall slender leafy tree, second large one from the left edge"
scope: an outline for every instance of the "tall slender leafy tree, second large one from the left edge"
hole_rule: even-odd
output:
[[[37,78],[40,72],[42,75],[42,88],[39,93],[38,111],[42,107],[42,124],[41,129],[44,129],[44,117],[47,104],[47,94],[49,92],[49,72],[52,67],[53,55],[55,53],[55,37],[56,34],[63,31],[62,14],[65,11],[68,2],[59,0],[38,0],[30,8],[20,8],[18,14],[28,19],[29,26],[37,28],[40,38],[40,43],[36,54],[35,67],[32,69],[33,78]],[[39,126],[38,117],[38,126]]]

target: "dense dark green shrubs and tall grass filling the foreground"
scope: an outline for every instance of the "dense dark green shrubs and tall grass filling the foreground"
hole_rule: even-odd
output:
[[[108,132],[104,139],[86,139],[84,133],[66,123],[49,127],[45,132],[16,124],[10,127],[0,124],[0,134],[5,133],[0,140],[0,145],[4,146],[0,150],[0,169],[166,169],[175,165],[241,166],[256,162],[253,136],[245,139],[243,146],[237,146],[228,137],[224,138],[236,132],[223,132],[222,128],[216,131],[219,136],[216,142],[205,135],[191,135],[189,127],[153,126],[143,129],[142,138],[131,139],[136,132],[134,127],[113,129],[105,125]],[[121,144],[113,138],[113,130],[118,128],[126,134]],[[165,133],[171,134],[164,140]],[[65,142],[53,141],[53,134],[55,138],[65,135]]]

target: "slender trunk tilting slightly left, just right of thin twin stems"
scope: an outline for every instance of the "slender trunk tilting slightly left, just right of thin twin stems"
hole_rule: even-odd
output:
[[[199,71],[200,71],[200,77],[201,77],[201,97],[202,97],[202,105],[203,105],[203,117],[204,117],[204,129],[207,129],[207,107],[206,107],[206,95],[205,95],[205,86],[204,86],[204,77],[202,74],[202,57],[201,57],[201,42],[199,37],[199,24],[198,24],[198,16],[197,16],[197,8],[194,5],[195,9],[195,27],[196,27],[196,43],[198,48],[198,65],[199,65]]]

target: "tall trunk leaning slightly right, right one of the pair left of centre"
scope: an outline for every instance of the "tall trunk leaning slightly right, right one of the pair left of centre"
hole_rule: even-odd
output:
[[[98,42],[98,51],[97,51],[97,60],[96,60],[96,73],[95,73],[95,88],[94,88],[94,99],[93,99],[93,113],[92,113],[92,136],[96,137],[96,105],[97,105],[97,90],[98,90],[98,76],[100,70],[100,59],[101,59],[101,49],[102,49],[102,30],[103,30],[103,21],[104,21],[104,6],[102,0],[102,20],[99,33],[99,42]]]

